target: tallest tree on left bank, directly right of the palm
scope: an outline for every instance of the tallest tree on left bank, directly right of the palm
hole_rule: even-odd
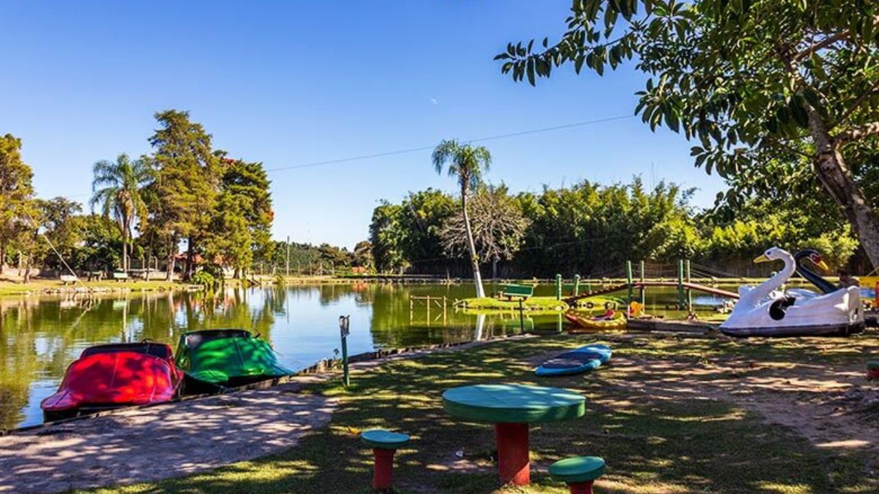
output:
[[[211,149],[211,135],[188,112],[166,110],[156,113],[159,128],[149,137],[156,179],[152,222],[166,244],[167,279],[173,279],[177,245],[186,239],[184,277],[194,268],[197,245],[204,240],[214,216],[221,179],[220,156]]]

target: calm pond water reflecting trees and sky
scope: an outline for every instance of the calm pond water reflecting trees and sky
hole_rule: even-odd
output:
[[[536,291],[552,293],[549,286]],[[673,293],[649,291],[653,312],[665,312]],[[40,401],[54,393],[85,347],[100,343],[152,338],[173,347],[185,331],[244,328],[270,340],[285,366],[301,369],[334,356],[341,315],[351,315],[351,353],[519,331],[516,313],[476,316],[451,308],[451,301],[472,294],[473,286],[466,284],[355,284],[230,289],[212,298],[185,293],[91,300],[0,297],[0,429],[39,424]],[[446,296],[448,308],[444,313],[434,305],[428,314],[419,301],[410,311],[410,295]],[[559,331],[562,324],[556,314],[525,320],[528,331]]]

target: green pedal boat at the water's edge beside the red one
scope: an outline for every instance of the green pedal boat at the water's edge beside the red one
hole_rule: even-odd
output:
[[[175,356],[190,391],[231,388],[292,374],[265,339],[245,330],[190,331]]]

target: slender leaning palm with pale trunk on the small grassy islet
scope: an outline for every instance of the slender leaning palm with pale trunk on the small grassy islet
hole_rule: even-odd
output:
[[[470,248],[470,262],[473,263],[473,280],[476,283],[476,296],[484,297],[483,277],[479,273],[479,257],[476,255],[476,243],[473,242],[473,229],[470,228],[470,216],[467,213],[467,200],[470,189],[476,188],[483,177],[483,171],[491,166],[491,153],[483,146],[473,147],[461,144],[456,139],[439,142],[433,149],[433,167],[441,174],[448,163],[448,175],[458,178],[461,185],[461,211],[464,214],[464,228],[467,230],[467,244]]]

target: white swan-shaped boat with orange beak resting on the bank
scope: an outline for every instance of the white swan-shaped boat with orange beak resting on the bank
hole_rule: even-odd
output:
[[[857,287],[840,288],[811,297],[781,296],[773,292],[794,274],[796,263],[788,251],[773,247],[755,263],[780,260],[784,268],[757,287],[739,287],[739,299],[720,326],[723,334],[750,336],[845,336],[863,331],[864,309]]]

